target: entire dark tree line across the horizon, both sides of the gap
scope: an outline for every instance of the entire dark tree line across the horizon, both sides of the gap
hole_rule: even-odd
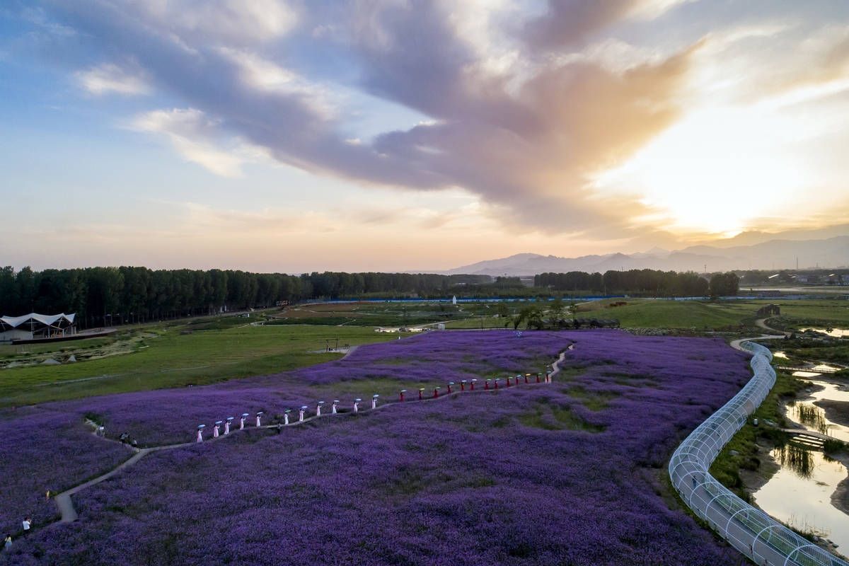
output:
[[[519,277],[434,273],[312,272],[302,275],[233,270],[151,270],[147,267],[0,269],[0,315],[29,312],[77,314],[80,328],[267,307],[307,299],[451,297],[551,297],[563,294],[706,296],[737,293],[734,273],[659,272],[542,273],[534,288]]]

